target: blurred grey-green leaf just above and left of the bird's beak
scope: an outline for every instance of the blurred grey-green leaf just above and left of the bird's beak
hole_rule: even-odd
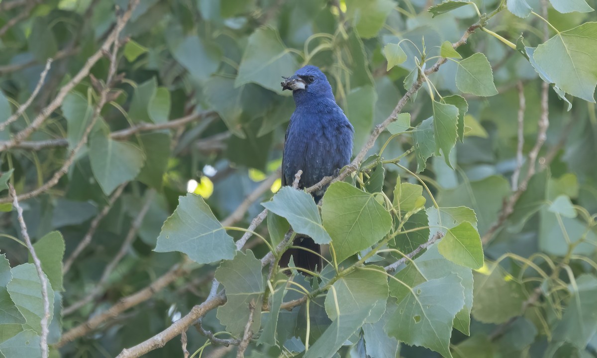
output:
[[[297,67],[278,31],[272,27],[260,27],[249,36],[234,87],[253,82],[281,93],[280,76],[293,75]]]

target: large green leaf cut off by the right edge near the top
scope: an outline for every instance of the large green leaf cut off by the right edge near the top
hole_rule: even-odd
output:
[[[538,70],[562,91],[595,103],[597,85],[597,23],[560,32],[533,53]]]

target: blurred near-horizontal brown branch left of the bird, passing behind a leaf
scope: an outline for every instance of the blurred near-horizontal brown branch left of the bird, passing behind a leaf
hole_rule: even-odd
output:
[[[200,113],[192,113],[190,115],[181,117],[179,119],[174,119],[173,121],[168,121],[166,123],[146,123],[142,122],[131,128],[121,129],[119,131],[115,131],[110,133],[110,138],[115,140],[124,140],[131,135],[137,134],[139,132],[146,132],[146,131],[157,131],[159,129],[174,129],[186,125],[190,122],[197,121],[198,119],[212,119],[217,116],[216,112],[213,111],[205,111]],[[8,141],[0,141],[0,146],[7,144]],[[13,148],[16,149],[27,149],[27,150],[41,150],[48,147],[66,147],[69,143],[66,138],[58,138],[58,139],[48,139],[48,140],[38,140],[38,141],[22,141],[19,144],[16,144]]]

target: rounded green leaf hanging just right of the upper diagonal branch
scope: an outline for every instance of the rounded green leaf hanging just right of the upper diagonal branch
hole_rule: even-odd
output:
[[[497,94],[496,85],[493,83],[491,64],[484,54],[476,53],[458,62],[456,87],[464,93],[481,97]]]

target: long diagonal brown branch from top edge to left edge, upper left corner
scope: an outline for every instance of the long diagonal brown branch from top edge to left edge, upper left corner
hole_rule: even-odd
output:
[[[64,98],[66,98],[66,95],[73,88],[75,88],[75,86],[78,85],[79,82],[81,82],[85,77],[87,77],[91,70],[91,67],[93,67],[94,64],[96,64],[97,61],[99,61],[100,58],[103,57],[104,54],[110,50],[112,44],[118,42],[118,36],[120,35],[121,30],[124,28],[125,24],[127,24],[128,20],[131,18],[131,14],[133,13],[133,10],[137,6],[137,4],[139,4],[139,1],[140,0],[131,0],[131,2],[128,5],[127,11],[125,11],[124,14],[122,14],[122,17],[119,17],[118,20],[116,20],[117,23],[114,27],[114,30],[112,31],[112,33],[110,33],[104,44],[101,45],[101,48],[87,59],[82,69],[79,70],[79,72],[66,85],[64,85],[64,87],[60,88],[60,91],[58,92],[54,100],[51,101],[51,103],[48,104],[48,106],[41,110],[41,113],[39,113],[39,115],[36,116],[36,118],[29,126],[15,134],[12,140],[0,145],[0,152],[11,149],[12,147],[16,146],[16,144],[19,144],[21,141],[25,140],[27,137],[29,137],[30,134],[39,129],[39,127],[44,123],[44,121],[56,109],[58,109],[58,107],[60,107],[60,105],[64,101]]]

